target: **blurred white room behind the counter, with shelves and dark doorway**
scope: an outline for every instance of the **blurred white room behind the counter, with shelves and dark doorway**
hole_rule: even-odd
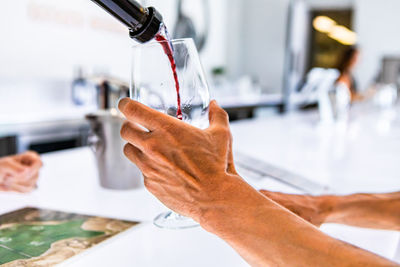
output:
[[[398,0],[142,3],[159,9],[172,36],[195,39],[212,96],[231,120],[318,107],[321,120],[335,118],[321,108],[321,92],[332,92],[353,46],[352,90],[396,100]],[[0,155],[85,146],[84,116],[127,94],[135,43],[125,27],[89,0],[2,0],[0,33]],[[115,101],[105,103],[104,90]]]

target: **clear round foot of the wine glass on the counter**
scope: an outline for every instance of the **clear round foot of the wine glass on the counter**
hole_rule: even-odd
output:
[[[154,219],[154,225],[164,229],[188,229],[200,226],[197,222],[190,218],[169,211],[158,215]]]

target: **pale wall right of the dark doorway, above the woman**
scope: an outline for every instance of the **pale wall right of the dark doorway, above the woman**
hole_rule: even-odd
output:
[[[400,1],[356,0],[355,10],[355,30],[362,51],[357,78],[365,89],[378,74],[382,57],[400,55]]]

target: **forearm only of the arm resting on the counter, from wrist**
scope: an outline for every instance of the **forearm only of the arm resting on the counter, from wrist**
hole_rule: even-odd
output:
[[[323,197],[326,222],[365,228],[400,230],[400,192]]]

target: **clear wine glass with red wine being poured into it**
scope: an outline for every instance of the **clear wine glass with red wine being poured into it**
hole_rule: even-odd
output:
[[[179,94],[174,80],[174,64],[170,62],[172,57],[167,56],[168,47],[172,48],[169,51],[176,64]],[[193,40],[161,40],[134,46],[131,97],[195,127],[207,128],[210,93]],[[168,229],[198,226],[192,219],[172,211],[157,216],[154,224]]]

